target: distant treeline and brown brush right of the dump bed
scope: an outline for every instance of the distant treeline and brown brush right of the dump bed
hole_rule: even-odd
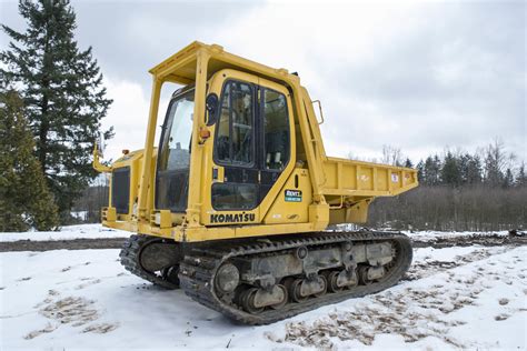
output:
[[[376,199],[368,227],[410,230],[486,231],[527,227],[524,161],[495,140],[477,152],[446,151],[414,164],[385,148],[384,162],[415,167],[419,188]]]

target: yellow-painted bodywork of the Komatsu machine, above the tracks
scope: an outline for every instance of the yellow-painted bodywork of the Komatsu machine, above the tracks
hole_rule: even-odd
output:
[[[186,242],[319,232],[329,224],[364,223],[375,198],[397,195],[418,185],[414,169],[327,157],[312,101],[300,86],[299,77],[285,69],[237,57],[216,44],[193,42],[150,73],[153,83],[145,149],[125,154],[110,167],[102,166],[99,152],[95,151],[93,167],[112,174],[109,205],[102,209],[106,227]],[[160,191],[156,189],[160,151],[155,147],[155,137],[160,91],[166,82],[186,86],[182,91],[193,99],[188,197],[183,211],[156,208],[156,194]],[[253,87],[250,89],[255,89],[257,106],[264,93],[281,99],[280,106],[288,114],[287,126],[282,128],[288,131],[289,149],[288,159],[279,171],[229,168],[215,157],[215,140],[226,132],[219,130],[219,126],[226,124],[219,123],[220,112],[215,112],[218,120],[210,123],[215,120],[207,99],[216,94],[221,109],[229,82]],[[270,164],[271,158],[277,154],[268,154],[262,162]],[[243,187],[249,178],[251,187],[266,189],[256,207],[215,208],[212,189],[225,187],[233,170],[241,174],[241,180],[238,185],[231,183],[232,189]],[[269,177],[271,185],[264,187]],[[116,208],[117,195],[121,198],[119,208]]]

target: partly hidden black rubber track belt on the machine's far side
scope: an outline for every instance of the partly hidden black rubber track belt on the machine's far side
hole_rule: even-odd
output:
[[[169,281],[163,280],[161,277],[158,277],[141,267],[139,261],[139,255],[141,253],[142,248],[153,241],[161,241],[156,237],[148,237],[148,235],[137,235],[133,234],[125,241],[121,252],[119,257],[121,259],[121,264],[125,269],[132,274],[148,280],[156,285],[160,285],[166,289],[178,289],[179,285],[171,283]]]

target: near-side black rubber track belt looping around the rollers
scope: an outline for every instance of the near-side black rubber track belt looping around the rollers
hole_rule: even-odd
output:
[[[350,290],[335,293],[327,293],[320,298],[311,298],[301,303],[289,302],[280,310],[266,310],[259,314],[249,314],[246,311],[227,304],[219,300],[212,291],[213,277],[218,268],[227,260],[237,255],[251,255],[266,252],[282,251],[300,245],[324,245],[336,244],[338,242],[351,241],[354,243],[371,241],[396,241],[399,243],[398,257],[395,258],[396,265],[388,272],[388,275],[380,282],[370,285],[359,285]],[[193,249],[186,254],[181,262],[179,279],[181,289],[195,301],[213,309],[229,319],[243,324],[268,324],[296,314],[317,309],[321,305],[347,300],[349,298],[364,297],[395,285],[408,270],[411,263],[411,243],[408,237],[396,232],[326,232],[295,238],[290,240],[267,240],[265,243],[250,245],[217,245],[207,249]]]

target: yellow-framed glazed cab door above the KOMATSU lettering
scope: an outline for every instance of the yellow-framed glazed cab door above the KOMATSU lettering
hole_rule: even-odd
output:
[[[208,225],[259,223],[294,168],[287,90],[225,70],[211,83],[219,96],[215,124]]]

